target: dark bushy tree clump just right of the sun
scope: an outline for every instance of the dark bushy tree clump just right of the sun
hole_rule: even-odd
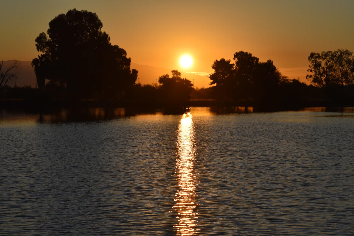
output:
[[[273,99],[281,80],[286,79],[273,61],[259,62],[249,52],[234,54],[235,63],[221,58],[216,60],[210,74],[210,85],[215,85],[219,98],[226,99]]]

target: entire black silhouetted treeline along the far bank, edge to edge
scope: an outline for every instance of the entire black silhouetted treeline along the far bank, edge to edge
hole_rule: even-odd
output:
[[[73,9],[58,15],[49,22],[47,33],[35,39],[41,52],[32,60],[38,90],[10,88],[2,82],[0,95],[41,101],[98,99],[141,106],[193,105],[198,100],[260,106],[354,104],[354,59],[348,50],[311,53],[310,85],[282,75],[272,60],[261,62],[244,51],[236,52],[233,61],[214,61],[209,76],[212,87],[206,89],[194,89],[177,70],[171,76],[161,75],[152,85],[141,85],[136,84],[138,71],[130,68],[131,58],[110,43],[102,27],[96,13]],[[11,70],[0,67],[1,81],[15,78],[16,69],[16,63]]]

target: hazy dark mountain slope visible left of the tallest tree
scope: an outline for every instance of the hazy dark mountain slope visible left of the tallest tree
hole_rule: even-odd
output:
[[[4,61],[4,68],[6,69],[7,67],[9,67],[12,62],[13,60]],[[34,74],[34,69],[31,66],[31,62],[18,62],[21,64],[21,69],[18,70],[18,79],[16,80],[16,85],[19,87],[22,87],[24,85],[31,85],[32,87],[35,87],[35,85],[37,84],[35,80],[36,75]],[[15,82],[9,82],[8,85],[13,87],[15,85]]]

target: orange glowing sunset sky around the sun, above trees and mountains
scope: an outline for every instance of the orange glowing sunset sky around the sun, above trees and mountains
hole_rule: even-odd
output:
[[[0,2],[4,61],[36,57],[36,36],[72,8],[96,12],[133,63],[185,72],[210,73],[215,59],[243,50],[305,81],[310,52],[354,50],[354,1]],[[188,69],[184,54],[193,58]]]

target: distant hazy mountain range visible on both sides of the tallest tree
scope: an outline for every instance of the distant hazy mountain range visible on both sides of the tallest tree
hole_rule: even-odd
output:
[[[4,68],[8,67],[12,63],[11,61],[4,61]],[[36,85],[36,75],[34,74],[34,69],[31,66],[31,62],[23,62],[19,61],[21,64],[21,69],[18,70],[18,79],[16,80],[16,85],[17,86],[24,86],[24,85],[31,85],[32,87],[35,87]],[[164,75],[164,74],[169,74],[171,75],[171,70],[172,69],[167,69],[167,68],[161,68],[161,67],[152,67],[149,65],[140,65],[136,63],[131,63],[130,66],[131,69],[137,69],[139,71],[138,77],[139,77],[139,82],[141,84],[152,84],[152,82],[156,81],[159,79],[159,76]],[[204,80],[204,87],[209,87],[210,79],[204,75],[195,75],[187,72],[182,72],[182,77],[187,78],[193,83],[195,83],[195,87],[202,87],[203,86],[203,80]],[[138,82],[138,81],[136,81]],[[15,82],[10,82],[8,84],[9,86],[13,87],[15,85]]]

